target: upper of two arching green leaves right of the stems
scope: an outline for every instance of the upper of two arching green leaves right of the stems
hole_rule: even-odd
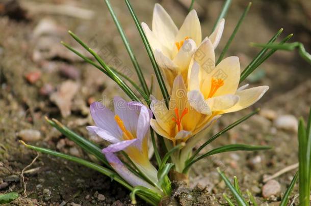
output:
[[[241,119],[239,119],[238,121],[236,121],[236,122],[230,124],[229,126],[227,126],[226,128],[224,128],[223,130],[221,130],[220,132],[218,132],[217,134],[215,134],[213,137],[211,137],[208,141],[206,141],[205,143],[203,143],[203,144],[199,147],[199,149],[197,149],[197,150],[195,151],[195,153],[189,158],[189,160],[187,160],[187,162],[186,162],[186,167],[185,167],[184,171],[187,173],[188,169],[186,169],[186,168],[190,168],[190,165],[188,166],[188,164],[194,160],[194,158],[199,154],[199,152],[200,152],[201,150],[203,150],[203,148],[205,148],[205,146],[207,146],[208,144],[210,144],[211,142],[213,142],[215,139],[217,139],[218,137],[220,137],[222,134],[226,133],[228,130],[230,130],[230,129],[236,127],[236,126],[238,126],[239,124],[241,124],[242,122],[244,122],[245,120],[247,120],[247,119],[248,119],[249,117],[251,117],[252,115],[258,113],[259,111],[260,111],[259,108],[255,109],[255,110],[252,111],[251,113],[249,113],[249,114],[243,116],[243,117],[242,117]],[[184,171],[183,171],[183,173],[185,173]]]

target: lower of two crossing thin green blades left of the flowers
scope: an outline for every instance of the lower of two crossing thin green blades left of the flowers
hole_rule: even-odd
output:
[[[100,67],[99,65],[97,65],[95,62],[93,62],[92,60],[90,60],[90,58],[84,56],[83,54],[81,54],[79,51],[75,50],[74,48],[72,48],[71,46],[69,46],[68,44],[66,44],[65,42],[61,42],[66,48],[68,48],[70,51],[72,51],[73,53],[75,53],[76,55],[80,56],[81,58],[83,58],[83,60],[87,63],[89,63],[90,65],[96,67],[99,71],[103,72],[104,74],[106,74],[109,78],[111,78],[109,76],[109,74],[106,72],[105,69],[103,69],[102,67]],[[128,76],[126,76],[125,74],[122,74],[121,72],[118,72],[116,69],[111,68],[111,70],[113,70],[116,74],[118,74],[119,76],[123,77],[124,79],[126,79],[129,83],[131,83],[134,88],[139,92],[139,94],[145,99],[145,101],[149,104],[150,103],[150,99],[149,97],[140,89],[140,87],[132,80],[130,79]],[[111,78],[112,80],[114,80],[113,78]]]

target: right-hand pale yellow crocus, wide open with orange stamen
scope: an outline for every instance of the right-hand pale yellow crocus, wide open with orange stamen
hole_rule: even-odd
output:
[[[202,55],[204,54],[204,55]],[[258,101],[269,86],[238,89],[240,62],[230,56],[215,66],[213,43],[207,39],[197,49],[188,73],[188,100],[202,114],[219,115],[244,109]]]

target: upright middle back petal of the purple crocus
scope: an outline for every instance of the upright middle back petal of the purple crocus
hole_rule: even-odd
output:
[[[137,130],[138,112],[130,108],[128,102],[121,97],[115,97],[113,103],[115,113],[123,121],[125,128],[132,134],[135,134]]]

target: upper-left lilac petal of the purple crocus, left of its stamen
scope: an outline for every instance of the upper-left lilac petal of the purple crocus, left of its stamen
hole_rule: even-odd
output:
[[[97,127],[109,131],[115,137],[122,136],[112,111],[100,102],[94,102],[90,105],[90,112]]]

